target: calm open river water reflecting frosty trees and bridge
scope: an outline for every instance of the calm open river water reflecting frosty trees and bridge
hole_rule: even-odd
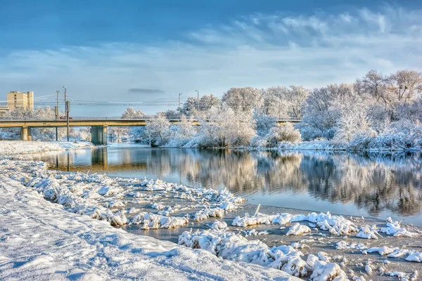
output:
[[[37,157],[63,171],[226,187],[252,204],[392,216],[422,225],[420,152],[248,152],[112,144]]]

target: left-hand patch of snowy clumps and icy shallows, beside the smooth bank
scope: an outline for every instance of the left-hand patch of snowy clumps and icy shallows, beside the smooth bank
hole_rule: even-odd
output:
[[[234,211],[244,202],[228,190],[192,188],[160,180],[139,181],[136,178],[63,173],[46,169],[43,162],[1,159],[0,166],[6,176],[34,188],[46,199],[63,205],[68,211],[108,221],[112,226],[136,224],[142,225],[143,229],[176,228],[186,225],[192,216],[194,221],[222,217],[225,211]],[[135,190],[153,194],[142,194]],[[133,209],[128,212],[126,196],[140,198],[143,202],[174,196],[181,200],[185,198],[182,202],[186,206],[166,206],[162,202],[153,202],[151,209],[160,210],[158,214],[152,214],[151,209],[134,213]],[[191,202],[199,204],[188,204]],[[197,209],[196,214],[191,216],[170,216],[177,211]]]

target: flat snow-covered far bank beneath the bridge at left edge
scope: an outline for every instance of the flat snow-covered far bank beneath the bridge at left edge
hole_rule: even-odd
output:
[[[0,141],[0,155],[22,155],[46,151],[90,148],[94,148],[94,145],[86,141]]]

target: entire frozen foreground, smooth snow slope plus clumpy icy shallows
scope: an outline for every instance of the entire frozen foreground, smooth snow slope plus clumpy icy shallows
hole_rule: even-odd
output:
[[[421,280],[422,228],[390,218],[257,209],[226,190],[18,156],[0,170],[0,280]]]

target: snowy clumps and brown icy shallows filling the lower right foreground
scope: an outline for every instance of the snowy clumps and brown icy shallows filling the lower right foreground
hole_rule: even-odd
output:
[[[421,263],[421,229],[412,227],[409,231],[391,218],[385,224],[367,223],[364,218],[347,219],[329,213],[257,213],[234,218],[232,227],[216,221],[208,230],[185,231],[179,236],[179,244],[206,249],[223,259],[280,268],[306,280],[419,280],[422,266],[409,265],[409,261]],[[238,231],[233,226],[265,230]],[[250,235],[265,236],[248,240]],[[268,237],[276,240],[274,247],[263,242],[271,242]],[[375,252],[381,256],[368,256]]]

